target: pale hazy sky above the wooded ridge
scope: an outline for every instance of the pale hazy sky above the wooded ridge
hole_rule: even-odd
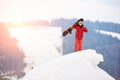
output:
[[[61,17],[120,23],[120,0],[0,0],[0,21]]]

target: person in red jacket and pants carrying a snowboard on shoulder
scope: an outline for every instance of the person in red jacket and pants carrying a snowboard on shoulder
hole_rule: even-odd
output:
[[[73,29],[76,29],[75,42],[74,42],[74,52],[82,50],[82,39],[83,33],[88,32],[88,29],[83,25],[83,18],[80,18],[75,24],[69,27],[63,32],[63,36],[66,36],[68,33],[71,34]]]

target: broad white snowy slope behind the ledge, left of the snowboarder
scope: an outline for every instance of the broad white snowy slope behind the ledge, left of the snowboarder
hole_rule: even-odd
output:
[[[24,26],[9,28],[11,37],[25,52],[26,72],[41,63],[57,58],[62,53],[61,28],[50,26]]]

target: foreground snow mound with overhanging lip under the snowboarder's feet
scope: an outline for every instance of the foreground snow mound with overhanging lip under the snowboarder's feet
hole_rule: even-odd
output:
[[[22,80],[114,80],[97,66],[100,61],[94,50],[71,53],[41,64]]]

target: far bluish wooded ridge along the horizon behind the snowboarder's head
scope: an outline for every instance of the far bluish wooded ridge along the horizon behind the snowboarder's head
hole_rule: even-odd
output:
[[[71,26],[73,23],[75,23],[78,19],[54,19],[51,21],[52,26],[61,26],[63,27],[63,30],[66,29],[67,27]],[[110,32],[116,32],[120,33],[120,24],[118,23],[112,23],[112,22],[100,22],[100,21],[89,21],[85,20],[84,25],[89,29],[89,30],[105,30],[105,31],[110,31]]]

